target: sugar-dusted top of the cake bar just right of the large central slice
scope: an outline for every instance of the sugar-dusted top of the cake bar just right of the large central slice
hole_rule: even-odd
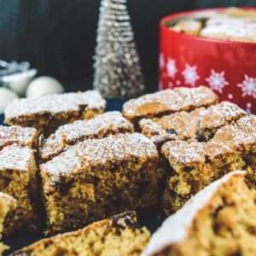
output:
[[[171,164],[188,165],[205,163],[207,160],[214,160],[225,154],[231,154],[233,150],[224,143],[197,143],[176,140],[165,143],[161,152]]]

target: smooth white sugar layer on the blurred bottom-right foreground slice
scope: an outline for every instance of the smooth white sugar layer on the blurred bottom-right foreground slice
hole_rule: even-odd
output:
[[[196,218],[197,212],[207,206],[207,203],[211,201],[212,196],[218,189],[225,183],[229,183],[230,178],[234,176],[243,178],[245,174],[246,172],[243,171],[229,172],[192,197],[183,208],[171,217],[166,218],[160,229],[151,237],[148,247],[143,252],[143,256],[160,253],[165,247],[183,241],[188,236],[189,227]]]

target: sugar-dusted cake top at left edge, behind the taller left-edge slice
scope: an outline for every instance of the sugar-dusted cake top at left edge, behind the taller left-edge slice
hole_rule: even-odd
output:
[[[37,135],[38,131],[34,128],[0,125],[0,149],[11,144],[32,148]]]

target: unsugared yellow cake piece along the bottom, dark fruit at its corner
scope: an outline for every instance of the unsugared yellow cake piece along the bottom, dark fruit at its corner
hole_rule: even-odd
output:
[[[12,255],[139,256],[149,237],[149,231],[138,226],[135,212],[125,212],[83,230],[38,241]]]

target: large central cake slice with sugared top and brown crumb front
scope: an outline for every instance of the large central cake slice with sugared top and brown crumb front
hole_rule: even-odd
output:
[[[118,212],[157,206],[163,171],[147,137],[86,140],[40,166],[49,233],[76,230]]]

